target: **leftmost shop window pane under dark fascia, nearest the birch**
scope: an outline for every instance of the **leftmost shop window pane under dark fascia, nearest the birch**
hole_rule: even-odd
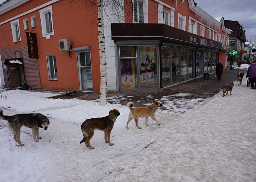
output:
[[[136,46],[119,47],[121,90],[137,88]]]

